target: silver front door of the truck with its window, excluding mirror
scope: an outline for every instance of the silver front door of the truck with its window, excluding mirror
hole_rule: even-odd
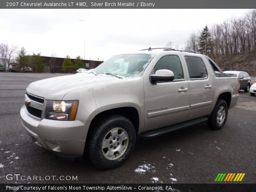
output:
[[[159,59],[151,74],[167,69],[174,73],[171,82],[151,84],[144,76],[145,128],[144,131],[183,122],[188,119],[189,89],[184,78],[184,66],[178,55],[166,55]]]

